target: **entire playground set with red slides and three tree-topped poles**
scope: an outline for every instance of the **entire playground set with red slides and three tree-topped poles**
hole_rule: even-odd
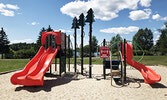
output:
[[[88,11],[87,20],[89,22],[89,78],[92,78],[92,23],[94,22],[94,15],[92,9]],[[80,21],[81,26],[81,74],[83,75],[83,37],[84,37],[84,15],[81,16]],[[74,72],[77,72],[77,56],[76,56],[76,45],[77,45],[77,28],[78,21],[75,17],[73,20],[74,28]],[[54,36],[54,37],[53,37]],[[46,39],[47,38],[47,39]],[[11,83],[14,85],[24,85],[24,86],[40,86],[43,85],[44,74],[49,70],[52,73],[51,63],[55,58],[55,71],[57,70],[57,58],[59,58],[59,76],[64,72],[66,73],[66,58],[68,57],[68,71],[70,71],[70,35],[59,32],[43,32],[41,39],[41,48],[39,49],[36,56],[25,66],[25,68],[18,73],[15,73],[11,77]],[[107,44],[107,45],[106,45]],[[103,47],[108,46],[111,48],[113,45],[106,42],[104,39]],[[68,50],[67,50],[68,49]],[[68,54],[66,54],[68,51]],[[133,46],[129,44],[125,39],[120,41],[118,53],[120,55],[119,60],[112,60],[112,51],[110,51],[110,58],[106,60],[103,58],[103,76],[106,79],[106,68],[110,68],[111,84],[112,78],[115,80],[121,80],[122,85],[126,81],[126,63],[139,70],[144,77],[144,82],[148,84],[154,84],[161,80],[161,76],[156,74],[152,69],[146,67],[139,62],[133,60]],[[68,55],[68,56],[67,56]],[[121,63],[121,68],[119,69],[119,64]]]

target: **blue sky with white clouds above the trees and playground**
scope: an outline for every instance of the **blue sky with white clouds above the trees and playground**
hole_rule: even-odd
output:
[[[153,32],[154,42],[160,36],[157,29],[167,21],[167,0],[0,0],[0,27],[5,29],[11,43],[35,43],[42,27],[50,25],[55,31],[71,35],[72,20],[92,8],[95,15],[93,36],[100,44],[120,34],[132,40],[140,28]],[[89,24],[84,27],[84,45],[89,43]],[[77,31],[80,45],[81,32]]]

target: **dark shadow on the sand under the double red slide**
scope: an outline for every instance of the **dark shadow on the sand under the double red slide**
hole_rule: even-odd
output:
[[[53,75],[51,75],[51,77],[53,77]],[[57,77],[57,79],[44,80],[43,86],[19,86],[15,91],[27,90],[29,92],[39,92],[43,90],[45,92],[50,92],[52,87],[64,85],[73,80],[79,80],[77,79],[77,75],[74,73],[67,73],[63,77]]]

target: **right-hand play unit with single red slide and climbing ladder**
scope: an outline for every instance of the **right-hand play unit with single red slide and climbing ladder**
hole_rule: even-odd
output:
[[[103,46],[106,46],[106,41],[104,39]],[[112,47],[110,44],[109,47]],[[114,78],[116,81],[121,81],[122,85],[124,85],[126,81],[126,63],[130,66],[137,69],[142,76],[144,77],[144,82],[147,84],[154,84],[161,80],[161,76],[155,73],[151,68],[133,60],[133,45],[129,44],[125,39],[124,41],[120,41],[119,47],[119,60],[112,60],[112,53],[110,52],[110,60],[103,59],[103,75],[104,79],[106,79],[106,69],[111,69],[111,78]],[[119,70],[119,64],[121,63],[121,68]],[[111,79],[112,85],[112,79]]]

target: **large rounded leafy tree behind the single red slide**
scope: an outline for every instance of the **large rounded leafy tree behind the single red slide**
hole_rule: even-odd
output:
[[[133,36],[133,42],[139,44],[143,50],[149,51],[153,46],[153,33],[150,29],[139,29]]]

